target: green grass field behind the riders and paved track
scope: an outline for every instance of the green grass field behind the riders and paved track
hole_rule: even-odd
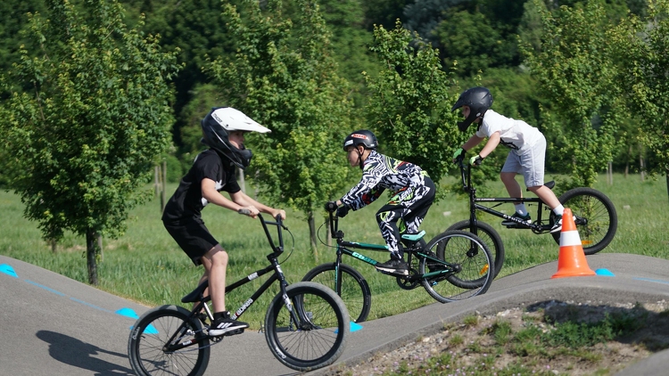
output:
[[[552,179],[553,176],[547,176]],[[615,240],[603,252],[621,252],[667,257],[669,233],[669,199],[664,178],[660,181],[640,182],[639,176],[614,176],[614,184],[606,183],[604,176],[594,188],[607,194],[615,203],[619,225]],[[173,192],[176,186],[170,186]],[[491,194],[505,197],[500,182],[491,184]],[[531,193],[528,193],[531,194]],[[351,241],[383,243],[376,226],[374,213],[381,202],[371,208],[351,212],[341,224],[346,238]],[[629,207],[629,208],[625,208]],[[508,204],[500,207],[511,213]],[[58,244],[57,251],[41,239],[37,224],[23,218],[21,200],[9,192],[0,192],[0,253],[21,259],[79,282],[87,282],[85,240],[68,233]],[[532,210],[532,208],[531,208]],[[146,306],[178,304],[180,298],[190,292],[202,275],[202,267],[195,267],[178,248],[161,224],[158,200],[134,209],[128,220],[128,231],[117,240],[104,239],[103,262],[98,269],[99,288],[124,298],[144,303]],[[268,244],[258,221],[242,217],[232,211],[211,207],[203,211],[205,223],[211,233],[230,254],[227,282],[236,281],[267,263]],[[444,231],[449,225],[467,218],[467,199],[450,195],[430,209],[421,226],[427,232],[426,239]],[[500,219],[483,214],[481,219],[492,225],[504,241],[506,261],[500,277],[524,270],[527,267],[554,261],[559,247],[549,234],[535,235],[529,231],[502,228]],[[317,225],[322,222],[317,219]],[[334,260],[334,252],[325,246],[318,247],[318,256],[310,249],[309,228],[300,214],[288,211],[286,225],[291,229],[295,248],[283,264],[289,282],[298,282],[310,268]],[[321,237],[325,236],[323,229]],[[286,237],[286,250],[292,240]],[[285,255],[287,255],[286,252]],[[369,257],[385,261],[387,255],[369,251]],[[372,290],[372,310],[369,320],[396,315],[434,302],[425,290],[401,290],[393,277],[376,273],[373,267],[351,258],[347,264],[357,268],[368,279]],[[227,308],[241,306],[262,281],[250,283],[249,288],[235,291],[227,296]],[[265,294],[243,318],[260,327],[273,293]]]

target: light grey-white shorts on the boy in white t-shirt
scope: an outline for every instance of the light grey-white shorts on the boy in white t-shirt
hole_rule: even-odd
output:
[[[523,174],[526,187],[543,185],[544,162],[546,160],[546,137],[541,135],[532,146],[508,152],[501,172]]]

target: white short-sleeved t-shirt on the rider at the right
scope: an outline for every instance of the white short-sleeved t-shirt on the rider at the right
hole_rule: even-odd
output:
[[[498,131],[500,132],[500,143],[514,150],[524,146],[533,146],[541,138],[539,129],[530,126],[523,120],[507,118],[493,110],[485,111],[481,127],[476,131],[476,135],[485,138]]]

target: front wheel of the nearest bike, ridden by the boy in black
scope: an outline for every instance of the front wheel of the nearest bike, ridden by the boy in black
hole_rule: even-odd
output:
[[[302,323],[294,323],[282,294],[265,316],[265,339],[279,362],[308,372],[335,363],[349,337],[350,319],[342,298],[322,284],[297,282],[286,288]]]

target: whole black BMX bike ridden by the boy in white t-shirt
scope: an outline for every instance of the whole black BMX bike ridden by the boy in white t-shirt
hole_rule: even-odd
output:
[[[495,217],[516,222],[514,225],[507,225],[507,228],[531,230],[536,234],[550,233],[550,229],[555,224],[556,215],[538,197],[476,197],[476,188],[472,185],[471,166],[467,165],[465,167],[465,164],[462,159],[458,159],[462,186],[469,196],[469,219],[450,225],[448,230],[463,230],[475,233],[488,244],[494,257],[495,276],[497,276],[504,263],[504,244],[501,241],[500,234],[491,225],[477,219],[476,212],[482,211]],[[550,181],[544,185],[553,189],[555,182]],[[604,193],[588,187],[578,187],[563,193],[558,197],[558,200],[565,208],[572,210],[574,223],[581,238],[583,252],[586,255],[594,255],[600,250],[605,249],[613,241],[615,231],[618,227],[618,215],[615,212],[613,202]],[[536,215],[533,216],[533,223],[524,223],[522,219],[511,217],[501,211],[495,210],[495,208],[504,203],[512,202],[524,202],[531,206],[536,204]],[[491,205],[491,203],[496,203],[496,205]],[[550,234],[559,244],[560,233]]]

